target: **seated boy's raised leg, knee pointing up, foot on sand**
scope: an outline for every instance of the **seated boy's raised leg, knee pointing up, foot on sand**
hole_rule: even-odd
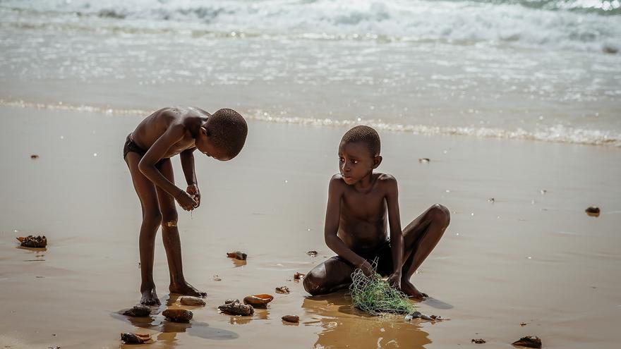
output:
[[[441,204],[429,207],[416,217],[403,230],[404,264],[402,268],[401,289],[414,298],[427,297],[410,282],[411,276],[421,266],[446,230],[451,221],[449,210]]]

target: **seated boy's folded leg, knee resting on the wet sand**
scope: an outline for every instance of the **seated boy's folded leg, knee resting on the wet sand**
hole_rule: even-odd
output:
[[[311,295],[325,295],[351,285],[354,267],[339,257],[332,257],[319,264],[304,276],[304,289]]]

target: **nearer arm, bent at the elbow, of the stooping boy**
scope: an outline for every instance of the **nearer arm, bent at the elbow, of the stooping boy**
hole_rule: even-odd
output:
[[[140,172],[142,172],[145,177],[149,178],[149,180],[151,180],[159,188],[162,188],[162,190],[169,193],[169,195],[179,201],[179,204],[181,204],[183,209],[186,209],[186,207],[184,207],[186,205],[183,203],[188,201],[186,200],[186,197],[183,197],[183,194],[187,195],[187,193],[181,190],[181,188],[177,188],[174,183],[171,183],[170,180],[164,177],[164,175],[162,175],[162,173],[155,168],[155,164],[157,164],[157,161],[164,157],[164,154],[166,154],[172,145],[179,142],[179,140],[183,138],[183,134],[185,132],[186,128],[184,128],[183,125],[170,126],[163,135],[159,136],[155,143],[153,143],[153,145],[147,150],[143,156],[143,159],[140,159],[140,162],[138,163],[138,169],[140,169]],[[183,203],[180,200],[183,200]],[[191,197],[190,200],[192,200]]]

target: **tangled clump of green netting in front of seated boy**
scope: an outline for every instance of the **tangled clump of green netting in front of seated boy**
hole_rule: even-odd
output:
[[[377,264],[373,263],[373,269],[376,268]],[[380,274],[366,276],[361,269],[356,269],[351,274],[351,281],[349,290],[352,303],[363,312],[371,315],[409,314],[415,310],[407,296],[390,287]]]

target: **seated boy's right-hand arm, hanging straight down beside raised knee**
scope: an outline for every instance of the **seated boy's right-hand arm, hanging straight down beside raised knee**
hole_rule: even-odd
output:
[[[403,264],[403,233],[401,230],[401,216],[399,215],[399,188],[397,180],[387,178],[386,204],[388,208],[388,225],[390,226],[390,245],[392,251],[392,265],[394,270],[388,278],[391,286],[400,288],[401,269]]]

